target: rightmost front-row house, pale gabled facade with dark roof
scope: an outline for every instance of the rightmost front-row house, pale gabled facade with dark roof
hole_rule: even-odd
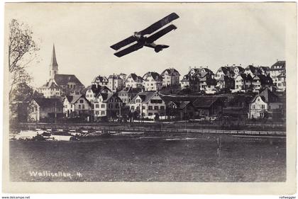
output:
[[[282,118],[282,103],[280,98],[270,89],[264,89],[250,103],[248,118]]]

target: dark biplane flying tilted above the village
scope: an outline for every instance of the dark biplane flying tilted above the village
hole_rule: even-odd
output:
[[[165,16],[165,18],[160,19],[160,21],[153,23],[148,28],[145,28],[144,30],[141,30],[139,32],[135,32],[133,35],[126,38],[125,40],[121,40],[121,42],[117,42],[116,44],[111,45],[111,48],[117,51],[123,47],[128,46],[123,50],[114,53],[114,55],[116,55],[117,57],[122,57],[131,52],[139,50],[144,46],[154,48],[155,52],[160,52],[162,49],[169,47],[169,45],[156,45],[154,42],[155,40],[161,38],[163,35],[170,33],[170,31],[177,29],[177,27],[173,24],[167,25],[177,18],[179,18],[177,13],[170,13],[170,15]],[[159,30],[165,25],[167,25],[165,28]],[[156,32],[157,30],[159,31]]]

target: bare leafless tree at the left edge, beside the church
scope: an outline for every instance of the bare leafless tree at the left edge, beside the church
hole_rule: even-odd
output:
[[[16,19],[9,24],[9,73],[11,89],[17,84],[28,84],[31,76],[26,72],[28,64],[35,59],[39,48],[33,40],[33,32],[24,23],[18,23]]]

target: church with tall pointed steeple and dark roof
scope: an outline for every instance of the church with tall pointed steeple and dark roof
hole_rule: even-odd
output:
[[[59,74],[58,64],[53,45],[52,59],[49,67],[49,80],[41,86],[38,91],[43,93],[45,98],[57,98],[67,95],[79,95],[84,85],[74,74]]]

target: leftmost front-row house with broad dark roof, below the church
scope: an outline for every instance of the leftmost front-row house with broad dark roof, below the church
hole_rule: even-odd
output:
[[[33,98],[27,109],[30,122],[56,122],[63,118],[63,104],[58,98]]]

